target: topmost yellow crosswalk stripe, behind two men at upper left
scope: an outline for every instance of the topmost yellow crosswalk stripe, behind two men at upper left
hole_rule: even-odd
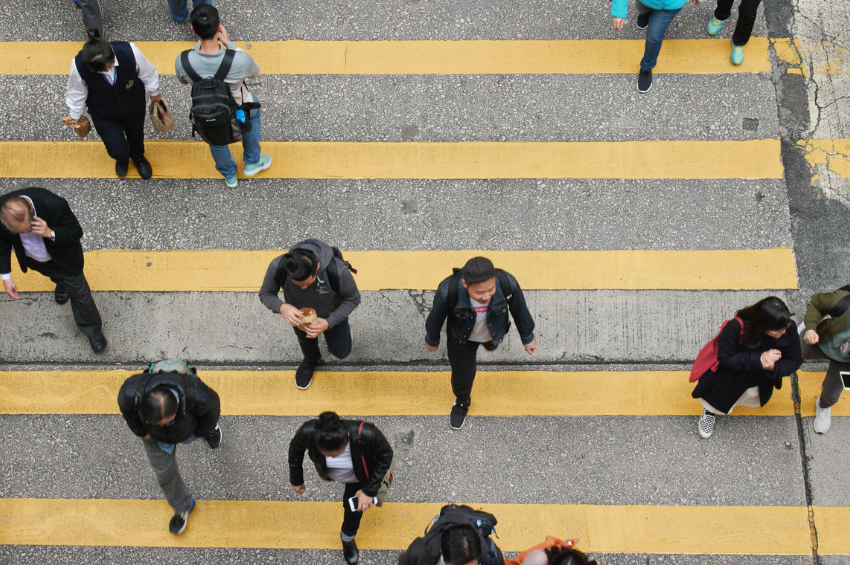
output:
[[[602,74],[637,73],[643,40],[566,41],[255,41],[237,43],[264,74]],[[81,48],[72,42],[0,43],[0,74],[65,75]],[[138,42],[160,74],[192,43]],[[729,62],[729,43],[668,39],[656,73],[762,73],[771,69],[768,40],[753,37],[740,67]]]

